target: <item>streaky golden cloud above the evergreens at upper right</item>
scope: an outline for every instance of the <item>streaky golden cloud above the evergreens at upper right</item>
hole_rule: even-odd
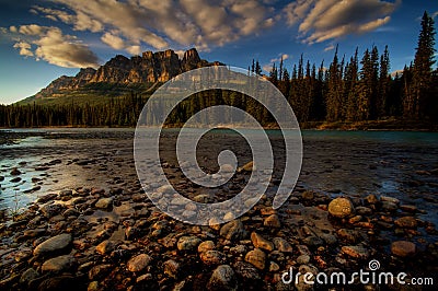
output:
[[[298,0],[284,12],[287,23],[299,23],[303,43],[322,43],[349,34],[364,34],[387,24],[401,3],[381,0]]]

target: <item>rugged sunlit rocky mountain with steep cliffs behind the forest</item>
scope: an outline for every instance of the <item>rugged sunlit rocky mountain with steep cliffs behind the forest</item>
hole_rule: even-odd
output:
[[[62,103],[70,102],[67,101],[72,100],[69,97],[74,97],[76,102],[85,100],[95,103],[99,102],[95,98],[102,96],[120,96],[130,91],[148,92],[148,89],[153,90],[182,72],[219,65],[222,63],[200,59],[196,48],[186,50],[182,59],[172,49],[145,51],[131,58],[117,55],[97,70],[84,68],[74,77],[61,75],[20,103]]]

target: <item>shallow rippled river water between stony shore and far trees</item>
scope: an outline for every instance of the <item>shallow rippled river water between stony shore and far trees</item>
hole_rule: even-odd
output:
[[[278,130],[268,135],[280,138]],[[0,209],[25,207],[50,191],[108,189],[117,181],[129,186],[137,179],[134,129],[0,130]],[[302,138],[299,187],[332,196],[395,197],[438,225],[438,133],[304,130]]]

